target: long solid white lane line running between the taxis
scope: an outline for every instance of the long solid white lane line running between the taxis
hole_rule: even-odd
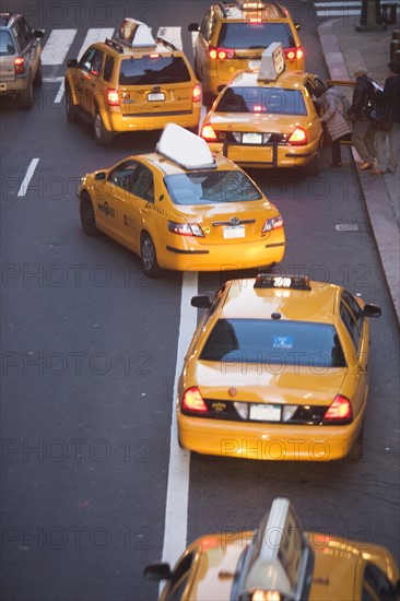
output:
[[[198,274],[183,273],[180,297],[180,325],[175,370],[173,399],[173,420],[170,426],[170,447],[168,466],[168,485],[165,505],[165,527],[163,561],[174,565],[186,549],[190,451],[181,449],[177,439],[176,398],[177,384],[184,358],[197,326],[197,310],[190,306],[190,298],[198,293]]]

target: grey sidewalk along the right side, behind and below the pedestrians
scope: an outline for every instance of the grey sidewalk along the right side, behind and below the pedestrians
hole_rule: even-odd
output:
[[[327,21],[318,27],[318,35],[330,78],[354,80],[357,67],[367,69],[379,84],[389,74],[392,30],[400,25],[356,32],[360,16],[343,16]],[[356,154],[353,149],[353,157]],[[378,247],[395,311],[400,323],[400,164],[393,175],[374,176],[356,169],[364,192],[365,205]]]

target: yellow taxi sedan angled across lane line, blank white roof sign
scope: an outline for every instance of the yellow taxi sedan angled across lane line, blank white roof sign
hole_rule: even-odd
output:
[[[149,276],[255,268],[284,255],[278,209],[237,165],[175,123],[156,152],[84,176],[79,199],[84,232],[133,250]]]

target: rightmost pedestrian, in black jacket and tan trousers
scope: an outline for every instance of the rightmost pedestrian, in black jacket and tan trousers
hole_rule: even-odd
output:
[[[398,166],[400,141],[400,63],[389,62],[390,75],[386,78],[383,91],[376,92],[377,117],[387,125],[388,130],[375,131],[376,160],[378,166],[370,173],[395,174]],[[391,123],[391,127],[390,127]],[[374,121],[373,121],[374,126]],[[384,126],[385,127],[385,126]],[[389,156],[386,156],[386,140],[389,140]]]

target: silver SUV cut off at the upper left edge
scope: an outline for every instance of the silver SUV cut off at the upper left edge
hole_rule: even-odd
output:
[[[33,106],[33,87],[42,85],[43,36],[21,14],[0,13],[0,95],[19,98],[24,109]]]

